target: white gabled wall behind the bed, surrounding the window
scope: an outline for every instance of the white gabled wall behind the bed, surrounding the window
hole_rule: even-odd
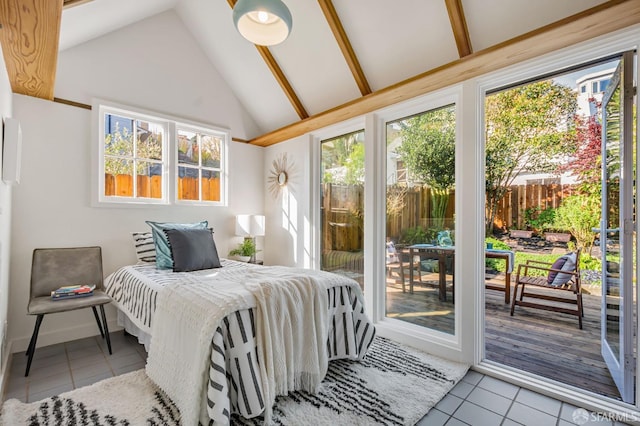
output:
[[[55,96],[107,98],[244,133],[254,123],[174,12],[166,12],[62,52]],[[100,245],[104,272],[135,262],[131,231],[145,220],[209,220],[221,256],[235,243],[234,216],[263,213],[264,149],[232,142],[229,206],[91,207],[91,111],[15,95],[23,130],[22,181],[13,190],[9,337],[26,349],[31,254],[37,247]],[[4,233],[3,233],[4,235]],[[115,311],[109,309],[110,327]],[[98,333],[90,310],[48,315],[38,346]]]

